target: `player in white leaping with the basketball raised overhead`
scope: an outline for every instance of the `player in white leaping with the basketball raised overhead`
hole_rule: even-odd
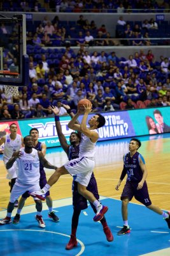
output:
[[[70,173],[73,175],[74,180],[78,182],[78,193],[87,198],[94,206],[96,207],[97,213],[94,216],[94,221],[99,221],[103,218],[104,213],[108,211],[108,207],[101,205],[100,202],[94,197],[94,195],[87,190],[87,185],[89,184],[92,171],[94,169],[94,154],[96,142],[99,139],[99,133],[97,128],[102,127],[106,120],[103,115],[96,114],[90,118],[87,128],[87,116],[89,115],[92,109],[92,104],[88,104],[85,108],[81,124],[76,124],[76,120],[81,115],[80,111],[71,119],[68,124],[70,129],[81,132],[81,141],[80,141],[80,152],[79,157],[73,159],[64,166],[57,168],[55,173],[50,177],[47,184],[41,191],[35,191],[30,193],[31,196],[36,196],[43,200],[45,193],[50,189],[50,187],[57,182],[59,177],[64,174]]]

